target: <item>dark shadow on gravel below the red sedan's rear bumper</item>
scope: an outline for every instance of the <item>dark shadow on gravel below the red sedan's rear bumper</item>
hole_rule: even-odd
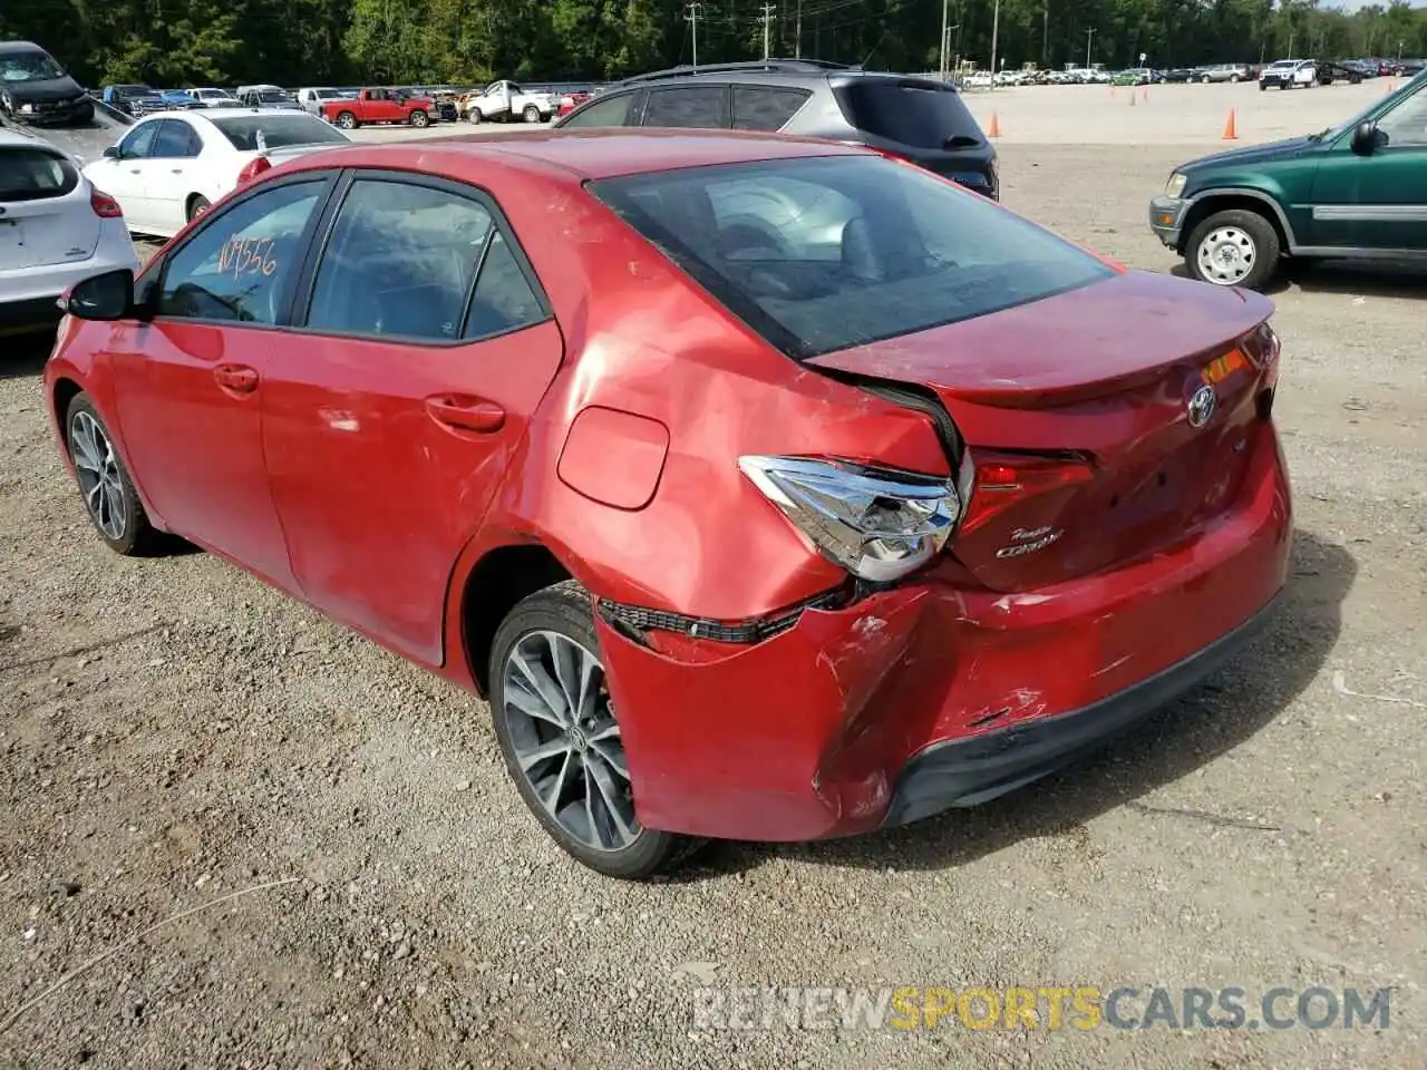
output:
[[[1013,795],[869,836],[809,845],[712,843],[688,879],[753,869],[769,857],[860,869],[953,869],[1023,839],[1083,836],[1083,825],[1173,783],[1277,718],[1323,668],[1341,631],[1357,564],[1299,529],[1277,615],[1232,665],[1099,755]],[[1147,809],[1147,807],[1146,807]],[[1160,810],[1154,810],[1160,813]],[[1241,825],[1232,813],[1164,810],[1194,826]]]

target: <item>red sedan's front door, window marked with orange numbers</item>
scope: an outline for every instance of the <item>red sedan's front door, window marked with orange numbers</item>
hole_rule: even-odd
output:
[[[166,257],[153,321],[116,324],[107,347],[130,468],[160,519],[288,589],[263,405],[273,327],[328,185],[288,181],[214,213]]]

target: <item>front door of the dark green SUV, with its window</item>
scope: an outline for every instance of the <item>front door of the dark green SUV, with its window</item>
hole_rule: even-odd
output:
[[[1351,143],[1350,128],[1319,165],[1309,244],[1427,251],[1427,88],[1378,116],[1371,153]]]

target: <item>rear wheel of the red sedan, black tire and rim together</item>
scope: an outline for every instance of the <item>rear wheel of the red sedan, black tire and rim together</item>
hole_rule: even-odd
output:
[[[592,698],[581,692],[571,700],[557,678],[557,652],[569,685],[578,689],[591,681]],[[642,880],[675,867],[702,845],[634,819],[619,726],[604,686],[594,599],[578,582],[537,591],[509,612],[495,632],[488,679],[507,770],[531,813],[571,857],[609,877]],[[586,713],[578,723],[569,720],[571,705]],[[567,799],[572,792],[578,795]]]

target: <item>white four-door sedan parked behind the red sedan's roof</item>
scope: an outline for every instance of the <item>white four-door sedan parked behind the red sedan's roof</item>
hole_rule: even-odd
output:
[[[84,175],[124,208],[136,234],[171,238],[238,185],[244,170],[351,138],[305,111],[158,111],[128,127]]]

